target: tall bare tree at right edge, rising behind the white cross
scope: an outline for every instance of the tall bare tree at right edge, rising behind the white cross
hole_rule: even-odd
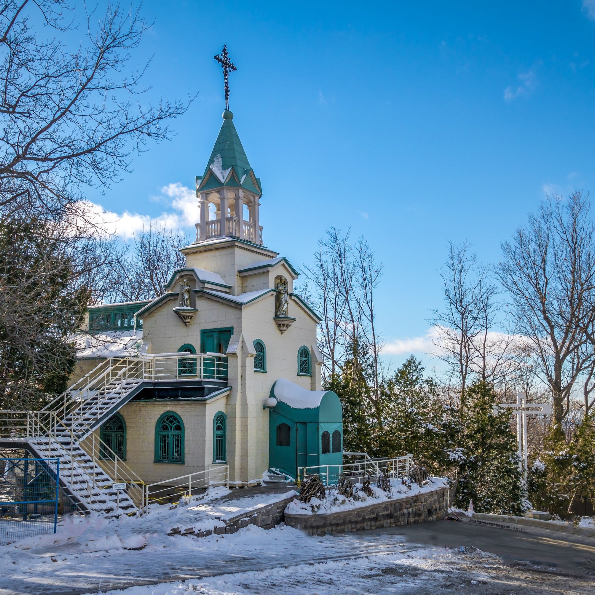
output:
[[[593,364],[592,305],[595,228],[587,197],[548,198],[527,227],[502,245],[497,275],[508,290],[516,330],[535,354],[538,372],[552,391],[553,422],[571,405],[575,381]]]

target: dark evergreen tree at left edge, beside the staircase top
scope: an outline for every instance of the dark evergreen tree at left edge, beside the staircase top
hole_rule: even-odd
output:
[[[39,409],[74,369],[68,338],[89,292],[73,289],[74,263],[57,236],[35,219],[0,224],[0,409]]]

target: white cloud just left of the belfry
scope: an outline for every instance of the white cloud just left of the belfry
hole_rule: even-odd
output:
[[[199,211],[195,193],[179,182],[162,187],[161,196],[152,196],[151,201],[165,202],[171,210],[162,212],[158,217],[129,211],[118,214],[107,211],[98,203],[86,201],[84,219],[105,233],[116,234],[123,240],[132,239],[134,234],[142,231],[149,222],[168,229],[192,228],[198,223]]]

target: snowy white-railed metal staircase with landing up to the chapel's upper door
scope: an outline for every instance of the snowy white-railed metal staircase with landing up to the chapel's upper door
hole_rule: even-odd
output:
[[[60,460],[60,483],[88,511],[143,511],[145,482],[99,439],[95,430],[126,405],[143,381],[227,377],[220,353],[162,353],[111,358],[41,411],[0,412],[0,437],[26,441],[39,458]],[[114,490],[125,483],[125,490]]]

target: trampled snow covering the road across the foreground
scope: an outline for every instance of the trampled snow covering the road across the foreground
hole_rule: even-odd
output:
[[[378,575],[382,593],[384,567],[398,564],[398,577],[390,571],[389,582],[409,588],[424,572],[452,567],[461,555],[406,546],[395,535],[308,537],[283,525],[268,531],[250,525],[225,536],[167,536],[164,529],[176,524],[179,511],[169,511],[172,518],[159,512],[142,518],[74,518],[56,535],[0,547],[0,593],[64,595],[132,585],[139,586],[126,595],[295,593],[303,581],[318,585],[318,591],[300,592],[331,593],[337,572],[346,572],[349,584],[360,586]],[[140,586],[170,581],[177,582]]]

